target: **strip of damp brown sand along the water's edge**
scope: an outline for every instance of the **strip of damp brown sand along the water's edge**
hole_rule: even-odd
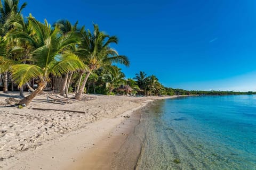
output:
[[[118,151],[123,147],[124,143],[127,141],[127,138],[133,133],[135,126],[140,123],[141,115],[138,114],[138,110],[143,107],[147,107],[147,104],[152,101],[147,101],[145,105],[134,108],[133,111],[126,111],[122,116],[129,115],[129,118],[125,118],[119,122],[119,124],[113,129],[111,129],[107,135],[104,135],[102,139],[98,140],[95,144],[96,147],[92,150],[87,150],[82,154],[78,155],[78,161],[74,164],[70,164],[68,167],[63,168],[63,170],[74,169],[74,170],[83,170],[83,169],[116,169],[113,167],[113,162],[118,154]],[[136,162],[137,159],[133,161]],[[131,163],[129,159],[128,166],[133,169],[134,162]],[[122,169],[125,169],[122,167]]]

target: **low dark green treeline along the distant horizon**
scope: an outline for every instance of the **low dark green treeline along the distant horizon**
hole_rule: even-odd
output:
[[[203,91],[203,90],[183,90],[165,88],[167,95],[255,95],[255,91],[239,92],[239,91]]]

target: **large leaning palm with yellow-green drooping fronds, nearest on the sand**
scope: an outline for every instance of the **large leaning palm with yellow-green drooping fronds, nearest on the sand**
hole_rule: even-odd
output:
[[[51,25],[37,21],[33,16],[28,17],[32,35],[26,32],[14,32],[20,39],[26,39],[35,50],[31,52],[31,64],[14,64],[11,66],[12,78],[21,87],[31,79],[39,79],[38,88],[29,96],[20,100],[19,104],[29,105],[30,101],[39,94],[49,81],[49,75],[60,76],[65,72],[85,69],[78,56],[71,53],[61,53],[63,48],[77,43],[76,37],[70,34],[62,36],[59,28],[51,29]]]

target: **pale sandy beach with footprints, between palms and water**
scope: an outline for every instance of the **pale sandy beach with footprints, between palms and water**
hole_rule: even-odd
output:
[[[18,99],[18,93],[0,93],[0,169],[108,169],[109,153],[118,150],[138,124],[134,111],[149,101],[169,98],[90,95],[93,100],[63,105],[37,96],[18,109],[2,107],[7,97]]]

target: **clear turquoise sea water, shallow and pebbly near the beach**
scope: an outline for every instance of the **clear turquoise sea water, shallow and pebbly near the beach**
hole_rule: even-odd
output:
[[[134,133],[137,169],[256,169],[256,96],[156,101]]]

